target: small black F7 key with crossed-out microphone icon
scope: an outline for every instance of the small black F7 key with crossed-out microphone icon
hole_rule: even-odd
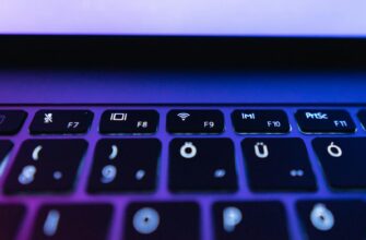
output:
[[[87,132],[93,120],[88,110],[39,110],[31,124],[32,134],[75,134]]]

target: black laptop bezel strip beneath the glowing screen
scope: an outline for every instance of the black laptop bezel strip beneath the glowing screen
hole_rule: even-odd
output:
[[[366,38],[0,35],[2,67],[366,67]]]

